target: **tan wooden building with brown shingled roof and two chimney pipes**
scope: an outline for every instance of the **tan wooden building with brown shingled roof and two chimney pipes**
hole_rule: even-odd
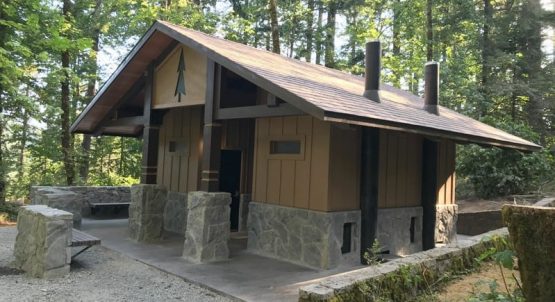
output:
[[[313,267],[407,254],[454,235],[456,144],[540,147],[366,77],[158,21],[72,126],[143,139],[142,183],[229,192],[254,252]],[[247,219],[248,217],[248,219]]]

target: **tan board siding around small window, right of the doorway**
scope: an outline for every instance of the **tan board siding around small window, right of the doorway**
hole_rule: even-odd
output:
[[[255,201],[316,211],[359,208],[358,128],[295,116],[259,118],[255,133]],[[270,141],[280,139],[300,140],[301,154],[270,154]]]

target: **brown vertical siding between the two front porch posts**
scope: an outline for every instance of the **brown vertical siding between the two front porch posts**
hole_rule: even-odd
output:
[[[200,185],[202,107],[176,108],[160,127],[157,183],[170,191],[196,191]],[[170,142],[177,148],[170,151]]]

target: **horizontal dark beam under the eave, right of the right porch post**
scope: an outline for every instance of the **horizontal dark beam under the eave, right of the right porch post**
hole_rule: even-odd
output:
[[[293,107],[290,104],[280,104],[277,107],[267,105],[219,108],[216,110],[216,118],[219,120],[230,120],[240,118],[272,117],[304,115],[306,113]]]

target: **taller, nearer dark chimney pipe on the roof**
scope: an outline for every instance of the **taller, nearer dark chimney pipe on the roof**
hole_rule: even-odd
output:
[[[365,81],[364,97],[375,102],[380,102],[380,70],[381,70],[382,47],[380,41],[370,41],[366,43],[366,55],[364,58]]]

